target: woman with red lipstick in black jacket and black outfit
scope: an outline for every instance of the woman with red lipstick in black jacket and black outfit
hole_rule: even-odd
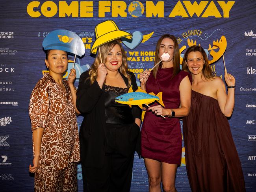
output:
[[[84,119],[80,128],[83,189],[86,192],[129,192],[134,151],[140,150],[141,110],[115,103],[137,90],[127,56],[118,41],[100,47],[91,68],[80,76],[76,105]],[[138,149],[138,150],[137,150]],[[139,154],[140,155],[140,154]]]

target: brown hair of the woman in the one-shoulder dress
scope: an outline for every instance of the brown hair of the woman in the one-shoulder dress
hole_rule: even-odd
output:
[[[203,56],[203,59],[204,59],[204,66],[203,66],[203,69],[202,69],[202,75],[206,78],[206,79],[211,79],[213,78],[213,72],[211,70],[211,67],[209,65],[209,61],[208,61],[208,58],[207,58],[207,55],[206,55],[206,52],[204,51],[204,49],[199,46],[199,45],[193,45],[191,47],[189,47],[187,50],[186,50],[186,53],[183,57],[183,62],[182,62],[182,70],[186,71],[186,72],[189,72],[189,69],[188,69],[188,66],[186,64],[187,62],[187,56],[190,52],[200,52]]]

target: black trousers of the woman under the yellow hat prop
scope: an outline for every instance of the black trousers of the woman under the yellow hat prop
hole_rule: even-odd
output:
[[[101,169],[82,164],[84,192],[129,192],[139,127],[134,124],[106,126],[106,154]]]

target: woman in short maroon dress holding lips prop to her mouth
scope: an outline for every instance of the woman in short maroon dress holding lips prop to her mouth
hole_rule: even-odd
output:
[[[189,73],[180,70],[179,47],[173,35],[165,34],[158,40],[155,65],[163,53],[171,57],[151,74],[148,70],[140,74],[141,89],[154,94],[163,92],[165,104],[163,108],[157,102],[151,103],[141,129],[141,156],[147,168],[150,192],[161,192],[161,181],[165,192],[176,191],[175,176],[182,153],[179,117],[188,115],[191,103]]]

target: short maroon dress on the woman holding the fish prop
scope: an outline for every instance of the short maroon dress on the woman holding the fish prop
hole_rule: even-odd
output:
[[[147,93],[163,92],[163,103],[167,109],[177,109],[180,106],[180,82],[188,73],[180,71],[173,79],[173,68],[158,69],[146,83]],[[158,102],[150,106],[159,105]],[[146,111],[141,128],[141,156],[170,164],[180,164],[182,153],[182,135],[179,118],[164,119],[152,111]]]

